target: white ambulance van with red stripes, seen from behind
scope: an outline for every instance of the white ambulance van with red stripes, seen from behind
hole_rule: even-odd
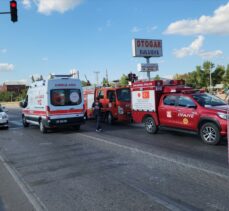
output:
[[[24,127],[38,125],[48,129],[84,123],[84,98],[79,79],[72,75],[50,75],[48,80],[33,82],[24,102],[20,103]]]

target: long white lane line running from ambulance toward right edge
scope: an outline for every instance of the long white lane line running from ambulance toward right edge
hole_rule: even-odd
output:
[[[221,177],[221,178],[226,179],[226,180],[229,179],[229,176],[227,176],[225,174],[214,172],[214,171],[211,171],[211,170],[208,170],[208,169],[203,169],[203,168],[191,165],[191,164],[187,164],[185,162],[177,161],[177,160],[175,160],[173,158],[168,158],[168,157],[161,156],[161,155],[155,155],[155,154],[152,154],[151,152],[146,152],[146,151],[143,151],[143,150],[138,149],[138,148],[133,148],[133,147],[117,144],[117,143],[114,143],[114,142],[110,142],[110,141],[108,141],[106,139],[103,139],[103,138],[98,138],[98,137],[94,137],[94,136],[90,136],[90,135],[86,135],[86,134],[82,134],[82,133],[79,133],[78,135],[80,135],[82,137],[86,137],[86,138],[91,138],[91,139],[94,139],[96,141],[103,142],[103,143],[106,143],[106,144],[110,144],[110,145],[113,145],[113,146],[116,146],[116,147],[119,147],[119,148],[127,149],[127,150],[130,150],[130,151],[135,152],[135,153],[137,152],[137,153],[141,153],[141,154],[144,154],[144,155],[148,155],[148,156],[151,156],[151,157],[156,158],[156,159],[161,159],[161,160],[167,161],[169,163],[175,163],[177,165],[181,165],[181,166],[184,166],[186,168],[191,168],[191,169],[198,170],[198,171],[201,171],[201,172],[204,172],[204,173],[207,173],[207,174],[218,176],[218,177]]]

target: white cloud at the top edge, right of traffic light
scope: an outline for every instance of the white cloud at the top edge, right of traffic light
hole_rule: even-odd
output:
[[[26,8],[31,7],[31,2],[37,5],[38,12],[49,15],[52,12],[65,13],[80,5],[84,0],[23,0]]]

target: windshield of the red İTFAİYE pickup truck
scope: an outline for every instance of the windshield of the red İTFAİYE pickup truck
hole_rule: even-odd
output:
[[[193,98],[201,105],[204,107],[208,106],[223,106],[226,105],[226,103],[221,100],[220,98],[211,95],[211,94],[196,94],[193,95]]]

